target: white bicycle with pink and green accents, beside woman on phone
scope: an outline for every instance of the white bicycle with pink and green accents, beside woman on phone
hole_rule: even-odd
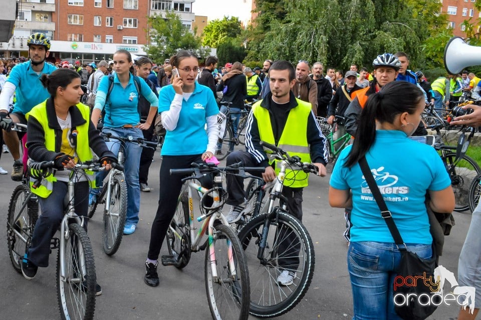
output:
[[[239,239],[221,212],[226,192],[218,186],[207,190],[196,180],[210,174],[215,176],[215,183],[221,184],[223,173],[243,174],[244,170],[259,171],[259,168],[243,169],[238,168],[238,164],[225,168],[205,164],[192,166],[194,168],[170,170],[171,175],[190,176],[182,179],[185,184],[166,235],[169,255],[162,256],[161,262],[163,265],[182,269],[187,266],[192,252],[205,250],[205,289],[212,318],[247,319],[250,300],[249,272]],[[199,205],[202,215],[196,219],[202,222],[198,232],[195,232],[193,221],[193,190],[203,194]],[[205,204],[207,197],[213,199],[211,206]],[[201,244],[206,231],[208,239]]]

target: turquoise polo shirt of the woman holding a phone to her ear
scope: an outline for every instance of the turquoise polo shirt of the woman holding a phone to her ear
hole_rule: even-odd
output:
[[[159,93],[159,113],[168,111],[175,96],[172,85],[164,86]],[[179,120],[174,130],[165,134],[162,155],[200,154],[207,147],[205,119],[219,113],[214,94],[208,87],[195,82],[195,89],[186,101],[182,99]]]

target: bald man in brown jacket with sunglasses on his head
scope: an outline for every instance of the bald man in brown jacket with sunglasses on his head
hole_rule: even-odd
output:
[[[309,63],[306,60],[300,60],[296,66],[296,83],[292,92],[296,98],[310,102],[312,111],[317,115],[317,84],[309,77]]]

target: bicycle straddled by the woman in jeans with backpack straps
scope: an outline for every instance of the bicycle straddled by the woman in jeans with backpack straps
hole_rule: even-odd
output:
[[[119,137],[112,133],[102,133],[105,141],[115,139],[119,143],[137,143],[141,147],[155,149],[157,142],[146,141],[144,138]],[[117,252],[122,241],[125,219],[127,215],[127,183],[123,173],[124,148],[121,146],[117,152],[118,164],[107,174],[102,190],[95,201],[89,204],[88,218],[92,218],[97,205],[104,204],[104,230],[102,234],[102,248],[107,255]]]

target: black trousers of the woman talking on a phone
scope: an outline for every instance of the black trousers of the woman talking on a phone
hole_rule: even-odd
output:
[[[191,168],[191,163],[201,163],[201,154],[193,155],[164,155],[162,156],[162,164],[160,165],[160,188],[159,188],[159,206],[155,214],[152,229],[150,231],[150,245],[147,258],[157,260],[165,239],[165,234],[169,228],[170,221],[175,214],[177,199],[182,189],[182,179],[185,176],[170,175],[170,169],[187,169]],[[212,188],[212,179],[205,176],[199,179],[202,187]],[[208,200],[209,198],[207,198]],[[207,203],[207,205],[209,205]]]

